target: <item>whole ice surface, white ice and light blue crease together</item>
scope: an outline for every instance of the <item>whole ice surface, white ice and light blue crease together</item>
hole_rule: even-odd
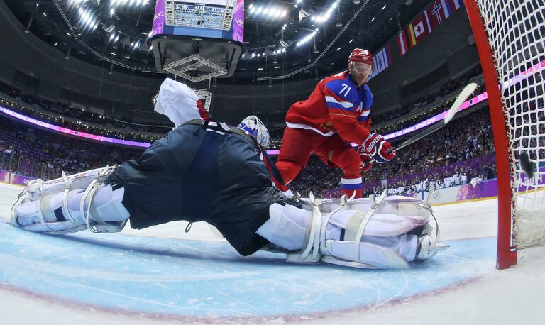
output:
[[[2,220],[20,190],[0,184]],[[541,324],[545,249],[495,270],[495,210],[495,199],[436,206],[452,247],[405,271],[243,258],[206,224],[68,236],[2,224],[1,323]]]

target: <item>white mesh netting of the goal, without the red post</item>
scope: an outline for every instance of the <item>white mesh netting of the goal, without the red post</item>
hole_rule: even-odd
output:
[[[478,0],[495,56],[509,138],[517,249],[545,243],[545,2]],[[526,153],[534,176],[522,171]]]

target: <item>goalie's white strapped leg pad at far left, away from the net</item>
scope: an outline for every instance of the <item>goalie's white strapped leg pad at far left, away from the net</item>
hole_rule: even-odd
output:
[[[121,231],[129,214],[123,187],[104,184],[115,167],[97,168],[43,182],[32,180],[11,209],[11,224],[27,231],[60,234],[89,229]]]

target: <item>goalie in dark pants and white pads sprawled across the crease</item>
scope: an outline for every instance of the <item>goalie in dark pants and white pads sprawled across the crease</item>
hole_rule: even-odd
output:
[[[291,262],[404,268],[444,246],[431,209],[409,197],[319,202],[290,199],[264,150],[267,128],[248,116],[238,128],[211,121],[196,94],[166,79],[155,111],[175,129],[140,158],[28,183],[11,223],[28,231],[96,233],[169,221],[206,221],[241,255],[260,249]]]

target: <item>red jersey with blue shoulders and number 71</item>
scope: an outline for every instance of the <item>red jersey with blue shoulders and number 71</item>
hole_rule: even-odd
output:
[[[360,145],[369,136],[373,94],[367,84],[356,87],[348,71],[321,79],[309,99],[297,101],[287,111],[290,128],[305,128],[322,136],[338,133]]]

